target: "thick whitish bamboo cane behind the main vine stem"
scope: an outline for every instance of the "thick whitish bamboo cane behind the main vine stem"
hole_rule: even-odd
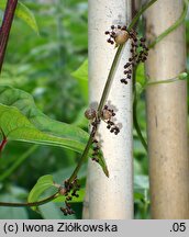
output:
[[[126,19],[125,19],[126,18]],[[131,21],[131,0],[89,0],[89,94],[90,104],[98,108],[102,90],[116,49],[107,43],[104,31],[112,24]],[[118,219],[133,217],[133,163],[132,163],[132,83],[121,84],[123,66],[130,56],[124,46],[108,104],[115,109],[122,128],[118,136],[101,123],[99,133],[110,178],[101,168],[89,161],[89,215],[88,218]]]

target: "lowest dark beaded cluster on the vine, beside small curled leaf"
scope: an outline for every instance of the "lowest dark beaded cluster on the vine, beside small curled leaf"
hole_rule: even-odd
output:
[[[73,196],[79,198],[79,194],[77,193],[79,189],[80,189],[80,184],[77,178],[75,178],[73,182],[66,180],[65,188],[63,187],[59,188],[59,193],[62,193],[62,190],[64,190],[64,195],[66,196],[66,201],[65,201],[66,207],[60,207],[60,211],[64,213],[64,215],[75,214],[75,211],[71,210],[70,203],[68,202],[73,200]]]

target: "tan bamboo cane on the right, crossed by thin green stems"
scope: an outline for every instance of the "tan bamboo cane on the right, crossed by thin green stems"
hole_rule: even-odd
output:
[[[146,11],[146,36],[153,41],[180,16],[182,0],[158,0]],[[175,78],[186,69],[185,26],[149,52],[149,83]],[[153,218],[189,218],[187,81],[147,88],[147,136]]]

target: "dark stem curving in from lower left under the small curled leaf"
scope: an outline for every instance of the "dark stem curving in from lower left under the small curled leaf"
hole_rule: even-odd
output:
[[[43,205],[52,200],[55,200],[59,195],[59,192],[54,193],[53,195],[43,199],[38,202],[31,202],[31,203],[9,203],[9,202],[0,202],[0,206],[12,206],[12,207],[21,207],[21,206],[40,206]]]

